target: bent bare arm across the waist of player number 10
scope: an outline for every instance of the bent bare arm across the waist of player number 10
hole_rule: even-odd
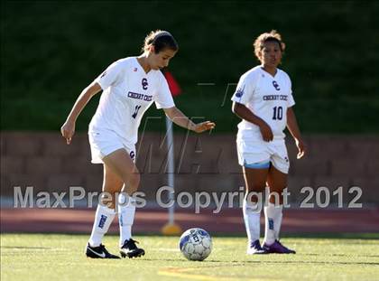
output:
[[[233,102],[232,111],[234,114],[236,114],[237,117],[245,119],[246,121],[249,121],[256,126],[259,126],[264,141],[270,142],[273,140],[273,131],[271,127],[268,126],[262,118],[254,115],[254,113],[249,108],[246,108],[243,104]]]

